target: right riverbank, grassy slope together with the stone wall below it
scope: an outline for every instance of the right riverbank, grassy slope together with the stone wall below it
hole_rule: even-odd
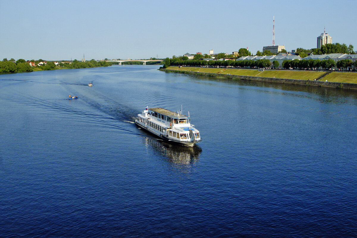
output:
[[[321,79],[326,72],[323,71],[289,71],[289,70],[249,70],[249,69],[223,69],[223,68],[202,68],[202,67],[176,67],[170,66],[161,69],[166,72],[177,72],[182,74],[197,74],[214,77],[227,77],[231,79],[290,83],[297,85],[310,85],[318,87],[333,87],[357,90],[357,73],[355,72],[332,72]],[[327,81],[326,81],[327,80]],[[338,80],[338,81],[335,81]]]

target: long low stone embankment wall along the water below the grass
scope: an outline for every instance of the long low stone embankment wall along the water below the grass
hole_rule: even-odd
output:
[[[326,82],[326,81],[315,81],[315,80],[300,80],[300,79],[279,79],[279,78],[268,78],[268,77],[256,77],[256,76],[243,76],[243,75],[231,75],[231,74],[215,74],[215,73],[204,73],[204,72],[193,72],[193,71],[183,71],[183,70],[168,70],[161,69],[161,71],[175,72],[181,74],[196,74],[204,76],[213,77],[226,77],[231,79],[241,79],[241,80],[252,80],[252,81],[263,81],[263,82],[275,82],[275,83],[290,83],[297,85],[311,85],[317,87],[333,87],[333,88],[345,88],[351,90],[357,90],[357,83],[340,83],[340,82]]]

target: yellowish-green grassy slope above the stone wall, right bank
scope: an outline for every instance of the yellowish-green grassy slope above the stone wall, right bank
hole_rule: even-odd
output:
[[[170,66],[168,69],[172,70],[186,70],[186,71],[196,71],[196,72],[207,72],[207,73],[218,73],[221,74],[232,74],[232,75],[248,75],[248,76],[259,76],[259,77],[276,77],[281,79],[301,79],[301,80],[314,80],[318,76],[322,75],[324,72],[321,71],[295,71],[295,70],[266,70],[264,72],[258,70],[247,70],[247,69],[222,69],[222,68],[202,68],[202,67],[177,67]],[[224,70],[224,71],[222,71]],[[323,81],[327,80],[329,82],[345,82],[345,83],[357,83],[357,73],[349,72],[332,72],[325,76]]]

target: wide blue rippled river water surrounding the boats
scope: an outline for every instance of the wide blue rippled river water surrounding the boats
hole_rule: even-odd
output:
[[[0,237],[357,237],[357,92],[157,69],[0,75]]]

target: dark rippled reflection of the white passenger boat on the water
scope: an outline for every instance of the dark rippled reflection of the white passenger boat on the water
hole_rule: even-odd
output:
[[[162,157],[172,167],[185,172],[192,164],[200,158],[202,149],[197,145],[194,147],[175,145],[154,137],[144,137],[144,143],[151,147],[155,155]]]

